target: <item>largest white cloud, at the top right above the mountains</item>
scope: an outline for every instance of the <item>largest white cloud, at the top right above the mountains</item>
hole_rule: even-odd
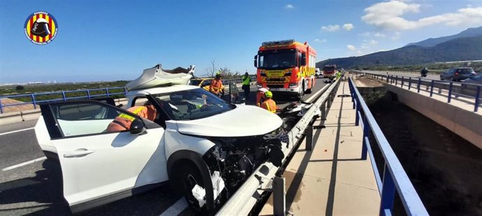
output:
[[[423,17],[418,20],[406,20],[402,17],[407,13],[420,12],[421,5],[418,3],[406,3],[392,0],[375,3],[365,8],[365,15],[361,17],[363,22],[372,24],[380,29],[404,31],[419,29],[434,24],[446,24],[455,26],[458,24],[482,24],[482,7],[461,8],[455,13],[444,13],[431,17]]]

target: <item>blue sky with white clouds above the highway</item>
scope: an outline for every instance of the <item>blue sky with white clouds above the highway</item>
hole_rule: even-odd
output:
[[[143,68],[211,61],[254,73],[266,40],[307,41],[317,60],[402,47],[482,26],[482,0],[460,1],[5,1],[0,84],[135,79]],[[58,22],[57,38],[34,45],[24,22],[36,11]]]

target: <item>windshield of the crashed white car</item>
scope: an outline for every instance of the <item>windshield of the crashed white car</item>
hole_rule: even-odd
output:
[[[153,96],[163,111],[177,121],[207,118],[235,108],[202,88]]]

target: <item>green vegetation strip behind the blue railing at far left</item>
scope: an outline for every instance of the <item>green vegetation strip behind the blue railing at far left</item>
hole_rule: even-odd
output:
[[[45,95],[36,95],[36,100],[54,100],[62,99],[61,91],[75,91],[65,93],[66,98],[84,97],[87,98],[87,89],[98,89],[89,91],[89,95],[105,95],[105,88],[124,87],[128,81],[116,82],[89,82],[89,83],[64,83],[64,84],[29,84],[24,86],[1,86],[0,95],[23,95],[31,93],[46,93]],[[20,88],[22,87],[22,88]],[[109,93],[124,93],[124,89],[109,90]],[[124,98],[124,95],[112,95],[112,98]],[[12,98],[22,102],[31,102],[30,95],[19,98]]]

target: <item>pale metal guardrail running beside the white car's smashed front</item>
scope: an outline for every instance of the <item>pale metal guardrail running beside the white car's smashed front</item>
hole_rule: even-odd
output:
[[[287,157],[291,155],[295,149],[295,145],[302,138],[303,133],[307,134],[313,130],[313,118],[317,110],[321,110],[321,118],[326,118],[326,110],[332,105],[335,99],[338,86],[341,79],[335,80],[334,83],[322,88],[322,95],[305,115],[296,123],[296,125],[288,132],[289,146],[282,146],[282,151],[285,155],[283,164],[285,164]],[[279,168],[275,167],[271,162],[265,162],[254,171],[253,174],[241,185],[241,187],[231,196],[224,206],[218,211],[216,215],[249,215],[252,208],[256,204],[261,193],[270,188],[271,180],[275,177]]]

